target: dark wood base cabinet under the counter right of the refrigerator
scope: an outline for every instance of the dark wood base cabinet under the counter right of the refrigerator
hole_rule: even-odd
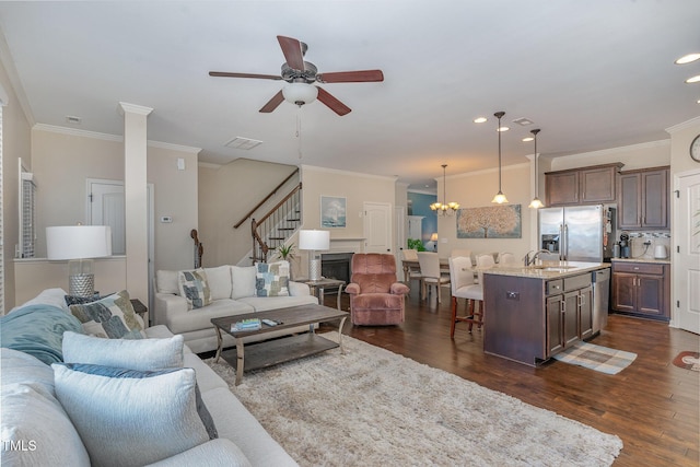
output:
[[[668,265],[612,261],[612,304],[616,312],[670,319]]]

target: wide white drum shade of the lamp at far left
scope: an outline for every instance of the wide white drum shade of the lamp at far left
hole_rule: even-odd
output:
[[[112,227],[67,225],[46,227],[48,259],[88,259],[112,256]]]

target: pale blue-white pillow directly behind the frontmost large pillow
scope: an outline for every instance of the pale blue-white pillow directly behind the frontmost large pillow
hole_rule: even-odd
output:
[[[139,371],[183,367],[182,335],[167,339],[103,339],[63,334],[63,362],[92,363]]]

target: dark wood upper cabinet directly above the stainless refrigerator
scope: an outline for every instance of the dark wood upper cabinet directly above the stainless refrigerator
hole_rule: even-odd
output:
[[[615,202],[617,174],[622,163],[547,172],[547,206],[598,205]]]

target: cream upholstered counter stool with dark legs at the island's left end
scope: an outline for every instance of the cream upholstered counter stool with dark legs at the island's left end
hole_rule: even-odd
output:
[[[479,329],[483,325],[483,308],[477,304],[483,302],[483,289],[474,283],[474,269],[469,256],[450,257],[450,281],[452,288],[452,319],[450,338],[455,337],[457,323],[469,323],[469,334],[476,324]],[[466,299],[466,315],[457,316],[457,299]]]

